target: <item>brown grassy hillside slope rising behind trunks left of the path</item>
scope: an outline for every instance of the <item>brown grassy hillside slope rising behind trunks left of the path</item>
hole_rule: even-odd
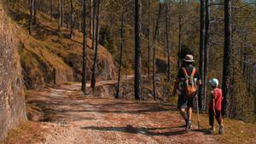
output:
[[[28,89],[38,89],[47,84],[62,84],[80,81],[82,74],[82,33],[75,31],[73,40],[68,30],[57,31],[57,21],[50,22],[49,15],[38,13],[32,35],[27,32],[29,14],[26,10],[9,9],[9,15],[18,24],[15,35],[20,38],[21,66]],[[88,39],[88,77],[90,80],[94,50]],[[98,80],[112,80],[116,77],[112,55],[100,45],[97,72]]]

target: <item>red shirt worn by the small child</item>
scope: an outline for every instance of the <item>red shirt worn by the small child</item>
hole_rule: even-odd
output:
[[[215,110],[221,110],[222,89],[215,88],[212,90],[212,99],[215,101]],[[209,103],[209,109],[213,109],[212,102]]]

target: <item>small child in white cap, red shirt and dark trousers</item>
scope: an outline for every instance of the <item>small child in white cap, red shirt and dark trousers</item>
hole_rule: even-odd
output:
[[[224,133],[224,125],[223,125],[223,119],[221,116],[221,103],[222,103],[222,89],[218,88],[218,79],[212,78],[209,83],[212,86],[211,91],[211,101],[209,103],[209,124],[211,127],[212,132],[215,131],[214,128],[214,116],[218,121],[219,129],[218,134]]]

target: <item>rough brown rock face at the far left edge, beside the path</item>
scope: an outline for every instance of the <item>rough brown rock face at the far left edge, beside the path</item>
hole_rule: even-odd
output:
[[[26,120],[19,42],[0,4],[0,141]]]

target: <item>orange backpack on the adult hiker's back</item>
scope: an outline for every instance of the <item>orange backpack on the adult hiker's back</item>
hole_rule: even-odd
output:
[[[194,76],[195,76],[195,68],[193,68],[193,71],[191,72],[191,75],[188,75],[188,72],[185,67],[183,67],[183,73],[185,75],[185,79],[183,82],[183,93],[184,95],[188,97],[194,97],[197,92],[197,85],[195,84],[194,81]]]

